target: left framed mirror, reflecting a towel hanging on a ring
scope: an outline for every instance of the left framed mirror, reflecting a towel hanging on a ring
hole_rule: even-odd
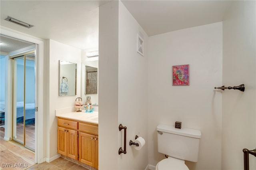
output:
[[[76,95],[76,63],[59,61],[59,96]]]

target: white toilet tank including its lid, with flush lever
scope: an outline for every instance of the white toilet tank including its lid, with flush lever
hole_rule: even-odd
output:
[[[200,130],[170,125],[158,125],[156,130],[158,152],[181,160],[198,161]]]

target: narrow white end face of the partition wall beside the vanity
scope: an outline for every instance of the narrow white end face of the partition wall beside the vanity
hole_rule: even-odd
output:
[[[99,8],[99,169],[118,159],[118,1]]]

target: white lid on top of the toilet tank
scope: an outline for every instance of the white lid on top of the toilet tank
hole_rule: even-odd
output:
[[[156,130],[166,133],[178,134],[182,136],[188,136],[192,138],[201,138],[201,131],[191,128],[175,128],[170,125],[158,125]]]

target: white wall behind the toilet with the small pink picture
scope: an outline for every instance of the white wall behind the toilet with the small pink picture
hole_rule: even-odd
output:
[[[190,85],[172,86],[172,65],[190,65]],[[221,169],[222,22],[151,36],[148,57],[148,158],[156,166],[156,126],[201,130],[198,162],[190,170]],[[209,152],[210,151],[210,152]]]

